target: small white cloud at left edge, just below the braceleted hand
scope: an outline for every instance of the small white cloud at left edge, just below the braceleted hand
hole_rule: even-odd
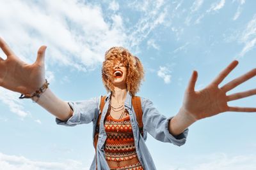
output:
[[[10,111],[17,114],[20,118],[24,118],[29,115],[29,112],[24,110],[22,101],[19,99],[16,92],[0,87],[0,101],[6,104],[10,108]]]

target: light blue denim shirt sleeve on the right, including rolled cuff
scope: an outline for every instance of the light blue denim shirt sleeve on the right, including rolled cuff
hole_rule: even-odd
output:
[[[173,117],[166,118],[164,115],[161,115],[153,106],[153,103],[144,97],[141,97],[141,107],[143,111],[143,129],[145,129],[145,131],[147,131],[151,136],[159,141],[173,143],[177,146],[181,146],[186,143],[188,129],[178,136],[170,134],[169,122]]]

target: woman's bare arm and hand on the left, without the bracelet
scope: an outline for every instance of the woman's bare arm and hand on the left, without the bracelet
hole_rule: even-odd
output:
[[[20,60],[2,38],[0,38],[0,47],[7,56],[6,60],[0,57],[1,87],[20,94],[33,94],[44,84],[46,46],[39,48],[33,64]],[[56,97],[50,89],[42,93],[37,103],[60,120],[65,121],[72,116],[68,103]]]

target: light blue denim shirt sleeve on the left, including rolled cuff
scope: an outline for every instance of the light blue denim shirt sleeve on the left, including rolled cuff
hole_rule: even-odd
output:
[[[73,110],[73,115],[67,121],[56,118],[56,124],[74,126],[77,124],[88,124],[99,115],[100,97],[93,97],[86,101],[68,101],[68,105]]]

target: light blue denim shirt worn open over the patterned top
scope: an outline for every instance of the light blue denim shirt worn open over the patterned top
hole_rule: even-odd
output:
[[[94,156],[90,170],[96,169],[96,159],[97,159],[97,169],[98,170],[109,170],[108,163],[105,159],[104,153],[104,143],[107,138],[106,131],[104,129],[104,118],[108,111],[109,106],[109,97],[111,93],[109,92],[108,96],[105,99],[105,106],[102,110],[102,117],[100,119],[100,128],[99,128],[99,140],[97,144],[97,154]],[[186,129],[179,136],[172,136],[168,131],[169,121],[172,117],[166,118],[164,115],[161,115],[159,111],[153,106],[153,103],[141,97],[141,108],[143,111],[143,133],[141,136],[138,123],[136,122],[136,113],[132,107],[131,95],[127,93],[125,99],[125,109],[129,112],[131,119],[132,132],[134,135],[134,143],[136,147],[136,152],[138,159],[141,162],[141,165],[145,170],[156,169],[154,161],[148,151],[145,141],[147,139],[147,132],[153,136],[155,139],[173,143],[174,145],[184,145],[186,142],[186,137],[188,135],[188,129]],[[86,101],[76,101],[68,102],[70,107],[73,109],[73,116],[70,117],[67,122],[63,122],[60,119],[56,118],[56,123],[59,125],[74,126],[77,124],[88,124],[93,122],[93,136],[95,132],[95,126],[97,124],[97,118],[100,113],[100,97],[95,97]]]

